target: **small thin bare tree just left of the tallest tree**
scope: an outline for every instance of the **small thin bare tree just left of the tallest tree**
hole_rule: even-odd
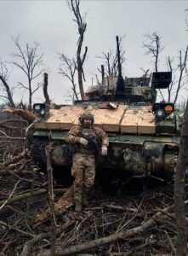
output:
[[[73,100],[76,97],[78,101],[77,94],[77,84],[75,82],[75,73],[77,70],[77,63],[74,58],[69,59],[65,54],[60,55],[60,68],[59,73],[71,81],[71,90],[73,91]]]

